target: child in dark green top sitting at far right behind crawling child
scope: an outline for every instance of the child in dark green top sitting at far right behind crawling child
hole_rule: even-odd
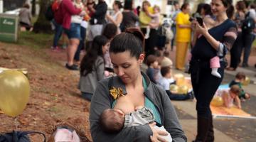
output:
[[[229,87],[233,86],[234,84],[238,85],[241,89],[239,98],[242,102],[245,102],[245,99],[250,99],[250,94],[245,93],[245,91],[242,89],[242,82],[245,81],[245,73],[244,72],[238,72],[237,75],[235,75],[235,80],[232,80],[229,84]]]

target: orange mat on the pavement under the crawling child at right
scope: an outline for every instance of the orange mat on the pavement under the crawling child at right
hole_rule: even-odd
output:
[[[238,109],[237,107],[214,107],[210,106],[210,110],[213,115],[230,115],[230,116],[251,116],[247,112],[242,109]]]

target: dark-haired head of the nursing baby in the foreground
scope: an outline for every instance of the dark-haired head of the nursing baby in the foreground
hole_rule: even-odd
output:
[[[106,109],[100,115],[100,126],[107,133],[116,133],[124,127],[124,112],[120,109]]]

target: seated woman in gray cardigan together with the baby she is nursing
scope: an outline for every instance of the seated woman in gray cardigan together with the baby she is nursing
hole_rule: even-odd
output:
[[[137,28],[128,28],[111,41],[117,76],[98,82],[92,95],[92,141],[186,141],[168,95],[140,70],[143,52],[144,35]]]

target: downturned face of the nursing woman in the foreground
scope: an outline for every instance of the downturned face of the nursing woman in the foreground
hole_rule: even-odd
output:
[[[144,55],[141,54],[139,59],[131,57],[129,51],[122,53],[110,53],[111,62],[114,67],[114,73],[121,78],[124,84],[128,84],[137,80],[140,72],[140,65],[144,60]]]

